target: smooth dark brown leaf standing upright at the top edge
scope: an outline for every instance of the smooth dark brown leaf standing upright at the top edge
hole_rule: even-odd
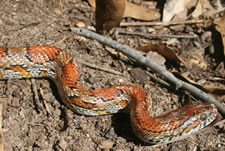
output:
[[[96,32],[103,34],[120,25],[126,0],[96,0]]]

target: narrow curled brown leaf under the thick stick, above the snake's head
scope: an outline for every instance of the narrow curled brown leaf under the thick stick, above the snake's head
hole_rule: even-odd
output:
[[[207,85],[201,85],[201,84],[198,84],[196,82],[194,82],[193,80],[189,79],[187,76],[183,76],[181,75],[180,73],[178,72],[173,72],[173,74],[183,80],[183,81],[186,81],[194,86],[196,86],[197,88],[201,89],[202,91],[212,95],[212,96],[222,96],[222,95],[225,95],[225,89],[223,88],[218,88],[218,87],[214,87],[214,86],[207,86]]]

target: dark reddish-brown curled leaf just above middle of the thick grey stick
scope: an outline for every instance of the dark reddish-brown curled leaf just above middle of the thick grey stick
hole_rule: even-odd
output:
[[[164,45],[151,44],[143,47],[138,47],[137,50],[142,52],[155,51],[169,60],[187,65],[183,57],[176,55],[176,53],[172,49]]]

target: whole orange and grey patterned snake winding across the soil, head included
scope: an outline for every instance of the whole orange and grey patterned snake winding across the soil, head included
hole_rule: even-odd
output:
[[[75,59],[55,47],[0,48],[1,80],[49,78],[56,83],[62,101],[82,115],[107,115],[127,108],[132,129],[144,142],[176,140],[206,127],[218,115],[213,104],[201,103],[152,117],[151,99],[142,88],[120,85],[89,90],[79,74]]]

